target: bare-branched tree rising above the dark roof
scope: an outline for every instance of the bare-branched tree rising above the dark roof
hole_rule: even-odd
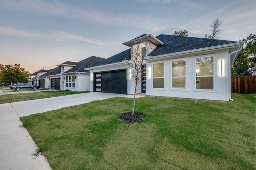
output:
[[[208,36],[208,34],[205,34],[204,38],[210,38],[210,39],[216,39],[219,38],[220,34],[222,33],[222,29],[220,28],[221,25],[223,24],[223,20],[220,20],[220,18],[216,18],[212,24],[210,24],[211,29],[209,30],[211,35]]]

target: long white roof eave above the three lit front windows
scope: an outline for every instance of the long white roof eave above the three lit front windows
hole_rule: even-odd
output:
[[[148,55],[147,57],[145,57],[145,60],[150,61],[150,60],[154,60],[156,58],[161,58],[161,57],[165,58],[165,57],[169,57],[169,56],[173,56],[173,55],[181,55],[181,54],[186,54],[186,53],[194,53],[194,52],[207,51],[207,50],[220,49],[220,48],[230,48],[230,47],[234,47],[234,46],[240,46],[243,44],[244,44],[244,42],[236,42],[236,43],[229,43],[229,44],[224,44],[224,45],[216,45],[216,46],[211,46],[211,47],[192,49],[192,50],[188,50],[188,51],[180,51],[180,52],[176,52],[176,53],[156,55],[154,57],[151,57],[151,55]]]

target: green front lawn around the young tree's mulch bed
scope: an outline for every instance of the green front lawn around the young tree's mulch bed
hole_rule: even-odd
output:
[[[256,95],[234,101],[114,98],[22,117],[55,169],[256,169]]]

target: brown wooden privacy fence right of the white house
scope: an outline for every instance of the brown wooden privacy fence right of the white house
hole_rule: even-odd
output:
[[[252,76],[231,76],[231,92],[252,94],[256,93],[256,75]]]

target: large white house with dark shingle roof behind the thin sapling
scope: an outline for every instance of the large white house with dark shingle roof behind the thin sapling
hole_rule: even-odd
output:
[[[229,101],[230,67],[244,42],[170,35],[142,35],[123,43],[128,47],[147,40],[146,82],[138,93],[151,96]],[[143,47],[142,47],[143,48]],[[105,59],[90,70],[91,91],[133,94],[128,60],[132,49]],[[232,100],[232,99],[231,99]]]

